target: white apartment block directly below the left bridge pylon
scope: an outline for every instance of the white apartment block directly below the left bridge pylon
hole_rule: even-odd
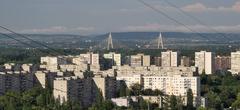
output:
[[[121,66],[121,54],[110,52],[108,54],[104,54],[103,57],[105,59],[111,59],[113,66]]]

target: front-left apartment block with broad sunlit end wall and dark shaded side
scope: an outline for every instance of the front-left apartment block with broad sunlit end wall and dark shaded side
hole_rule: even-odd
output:
[[[53,95],[60,103],[68,100],[80,101],[83,106],[92,103],[92,81],[91,79],[80,79],[78,77],[61,77],[54,80]]]

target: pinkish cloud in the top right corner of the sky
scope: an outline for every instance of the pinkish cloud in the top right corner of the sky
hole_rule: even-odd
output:
[[[233,11],[233,12],[240,12],[240,1],[235,2],[232,6],[230,7],[224,7],[224,6],[219,6],[219,7],[207,7],[206,5],[202,3],[194,3],[190,5],[186,5],[182,7],[184,11],[187,12],[204,12],[204,11]]]

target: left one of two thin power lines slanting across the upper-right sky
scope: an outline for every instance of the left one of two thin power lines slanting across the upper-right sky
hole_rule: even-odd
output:
[[[187,26],[187,25],[185,25],[184,23],[178,21],[177,19],[175,19],[175,18],[169,16],[169,15],[166,14],[165,12],[163,12],[163,11],[161,11],[161,10],[155,8],[154,6],[148,4],[147,2],[145,2],[145,1],[143,1],[143,0],[136,0],[136,1],[142,3],[144,6],[146,6],[146,7],[148,7],[148,8],[151,8],[153,11],[155,11],[155,12],[157,12],[157,13],[159,13],[159,14],[165,16],[165,17],[168,18],[169,20],[171,20],[171,21],[173,21],[173,22],[175,22],[175,23],[177,23],[177,24],[182,25],[183,27],[185,27],[185,28],[188,29],[189,31],[191,31],[191,32],[193,32],[193,33],[195,33],[195,34],[197,34],[198,36],[201,36],[201,37],[203,37],[203,38],[205,38],[205,39],[207,39],[207,40],[210,40],[208,37],[206,37],[206,36],[202,35],[201,33],[199,33],[199,32],[197,32],[197,31],[191,29],[189,26]]]

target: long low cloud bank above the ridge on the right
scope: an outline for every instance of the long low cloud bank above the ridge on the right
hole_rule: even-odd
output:
[[[217,30],[218,32],[224,33],[238,33],[240,32],[240,25],[235,26],[212,26],[211,28],[207,28],[203,25],[187,25],[187,27],[191,28],[196,32],[214,32]],[[122,28],[122,31],[161,31],[161,32],[191,32],[184,26],[176,26],[176,25],[160,25],[160,24],[146,24],[142,26],[127,26]]]

